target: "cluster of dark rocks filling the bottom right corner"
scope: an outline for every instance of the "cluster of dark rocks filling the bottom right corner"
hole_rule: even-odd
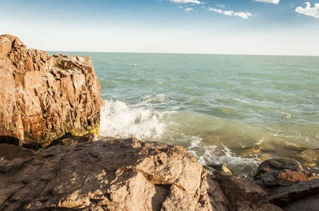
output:
[[[318,210],[319,177],[303,170],[296,160],[266,160],[258,167],[258,174],[253,183],[267,192],[270,203],[284,210]]]

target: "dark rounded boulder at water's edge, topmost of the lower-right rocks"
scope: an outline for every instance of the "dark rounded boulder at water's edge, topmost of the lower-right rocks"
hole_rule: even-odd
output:
[[[260,176],[261,174],[265,174],[267,172],[272,172],[275,170],[303,170],[303,167],[301,167],[301,164],[296,160],[274,158],[262,162],[258,166],[255,176],[253,177],[255,178]]]

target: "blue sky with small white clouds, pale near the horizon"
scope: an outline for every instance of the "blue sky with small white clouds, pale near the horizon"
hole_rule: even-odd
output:
[[[32,49],[319,56],[319,0],[0,0]]]

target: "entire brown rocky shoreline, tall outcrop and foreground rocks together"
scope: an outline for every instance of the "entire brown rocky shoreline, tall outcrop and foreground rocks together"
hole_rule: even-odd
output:
[[[0,96],[0,210],[318,210],[319,177],[296,160],[266,160],[245,181],[182,146],[98,141],[90,58],[2,35]]]

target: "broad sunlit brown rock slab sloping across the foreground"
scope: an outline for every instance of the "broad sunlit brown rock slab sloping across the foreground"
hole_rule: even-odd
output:
[[[0,210],[281,210],[255,184],[211,177],[182,146],[53,146],[0,161]]]

